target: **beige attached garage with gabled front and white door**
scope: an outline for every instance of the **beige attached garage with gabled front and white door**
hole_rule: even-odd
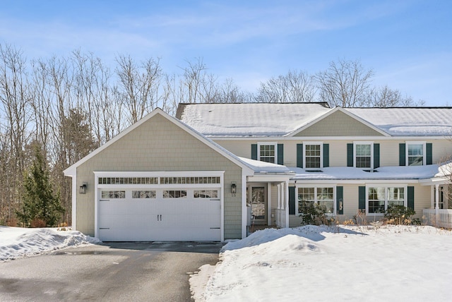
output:
[[[72,178],[73,229],[102,241],[246,236],[246,177],[254,170],[161,109],[64,174]]]

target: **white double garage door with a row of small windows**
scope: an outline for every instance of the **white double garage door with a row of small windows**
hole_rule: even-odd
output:
[[[100,177],[97,237],[220,241],[221,182],[219,176]]]

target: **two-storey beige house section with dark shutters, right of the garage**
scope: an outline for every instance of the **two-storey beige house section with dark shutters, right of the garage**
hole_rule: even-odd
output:
[[[452,207],[445,177],[452,169],[439,165],[452,155],[449,107],[180,104],[177,118],[234,155],[295,172],[288,224],[278,221],[275,183],[246,184],[251,207],[265,207],[254,215],[255,223],[297,227],[301,200],[326,205],[340,221],[358,211],[368,220],[381,219],[390,205],[411,207],[417,217],[429,214],[427,209]],[[264,193],[256,197],[254,191]]]

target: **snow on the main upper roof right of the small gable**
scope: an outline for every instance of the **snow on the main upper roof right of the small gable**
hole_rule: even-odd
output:
[[[345,108],[393,136],[451,136],[452,107]]]

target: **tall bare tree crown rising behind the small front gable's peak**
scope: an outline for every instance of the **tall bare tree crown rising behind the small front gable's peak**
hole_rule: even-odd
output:
[[[331,61],[326,71],[315,75],[319,99],[331,107],[366,107],[373,75],[359,61]]]

